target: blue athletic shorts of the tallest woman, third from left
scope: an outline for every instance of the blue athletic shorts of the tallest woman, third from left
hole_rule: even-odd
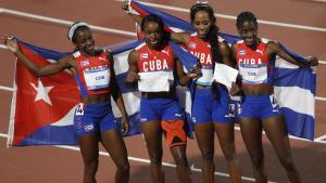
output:
[[[191,108],[193,123],[234,121],[235,105],[230,104],[228,92],[221,87],[217,87],[217,92],[216,100],[211,89],[196,89]]]

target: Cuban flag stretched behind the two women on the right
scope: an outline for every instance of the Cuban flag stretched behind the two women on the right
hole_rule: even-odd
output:
[[[166,29],[170,31],[187,31],[195,32],[192,25],[186,21],[174,17],[167,13],[160,12],[145,4],[129,0],[129,12],[146,16],[155,14],[160,16]],[[240,40],[239,37],[221,32],[220,35],[229,44]],[[280,44],[280,43],[279,43]],[[280,44],[290,55],[299,61],[306,62],[301,56],[283,44]],[[276,99],[279,103],[280,110],[285,116],[288,133],[298,138],[314,140],[315,127],[315,91],[316,91],[316,73],[315,68],[299,68],[298,66],[276,57],[275,61],[274,86]],[[189,95],[186,97],[186,110],[190,113],[188,104]],[[233,103],[236,103],[234,101]]]

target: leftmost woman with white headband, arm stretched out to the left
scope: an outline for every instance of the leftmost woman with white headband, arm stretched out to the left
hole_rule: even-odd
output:
[[[111,108],[111,96],[122,114],[122,129],[128,132],[129,122],[120,87],[116,83],[113,57],[110,51],[96,50],[95,40],[86,23],[76,22],[70,26],[68,39],[75,51],[48,66],[38,66],[28,60],[12,37],[4,37],[4,43],[37,77],[71,70],[78,83],[80,103],[77,105],[74,126],[84,160],[84,183],[95,183],[99,164],[101,141],[112,157],[117,170],[116,183],[129,181],[129,162],[121,131],[117,129]]]

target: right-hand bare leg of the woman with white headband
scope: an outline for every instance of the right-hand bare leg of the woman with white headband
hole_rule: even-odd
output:
[[[126,145],[118,130],[101,132],[102,144],[116,166],[115,182],[127,183],[129,181],[129,162]]]

